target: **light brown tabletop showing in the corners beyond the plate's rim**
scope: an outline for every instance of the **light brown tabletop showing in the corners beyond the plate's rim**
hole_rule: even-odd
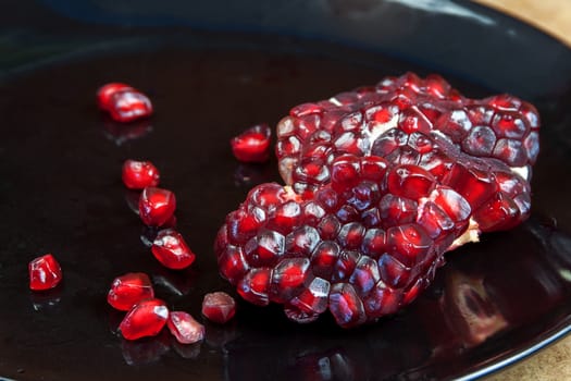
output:
[[[571,46],[571,0],[477,0]],[[571,112],[571,111],[570,111]],[[486,378],[486,381],[571,380],[571,336]]]

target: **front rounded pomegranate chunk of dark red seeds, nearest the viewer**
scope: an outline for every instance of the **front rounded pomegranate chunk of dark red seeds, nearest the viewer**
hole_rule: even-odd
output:
[[[260,208],[264,219],[251,228],[233,224],[234,214],[228,216],[215,245],[222,275],[246,300],[283,304],[298,322],[314,321],[328,309],[339,325],[350,328],[394,312],[431,282],[445,249],[469,228],[468,201],[422,169],[409,168],[409,188],[398,182],[393,190],[401,196],[393,195],[384,184],[400,168],[345,155],[333,161],[332,182],[315,197],[272,184],[253,188],[233,213],[250,216],[248,210]],[[261,207],[262,193],[274,202]],[[377,208],[388,196],[406,200],[399,202],[408,205],[408,217],[370,219],[382,216]],[[435,233],[422,220],[429,199],[446,228]],[[352,217],[344,222],[349,209]],[[376,297],[390,305],[374,305]]]

